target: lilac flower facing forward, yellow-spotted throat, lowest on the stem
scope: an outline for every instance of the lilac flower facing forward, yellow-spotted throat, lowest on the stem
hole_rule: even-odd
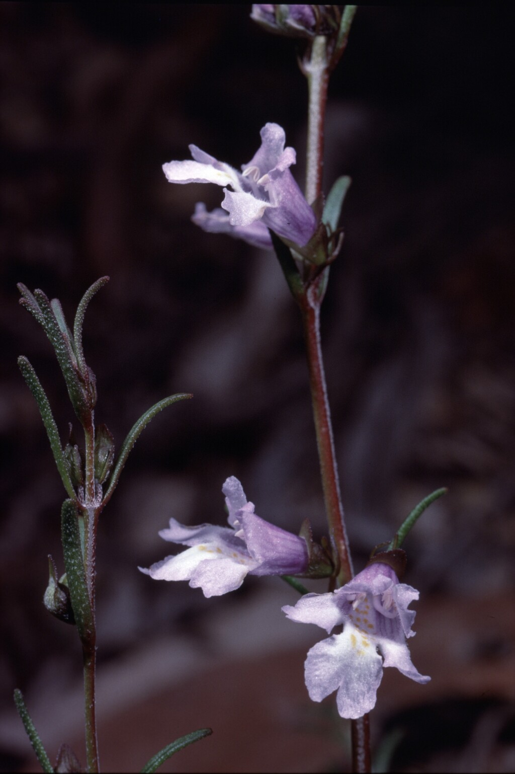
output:
[[[413,637],[415,613],[408,604],[418,591],[399,583],[392,568],[373,563],[350,583],[331,594],[305,594],[295,607],[282,610],[292,621],[316,624],[329,632],[343,624],[343,632],[317,643],[305,660],[305,684],[313,701],[338,690],[342,717],[362,717],[376,703],[384,666],[417,683],[428,683],[411,663],[406,638]]]

